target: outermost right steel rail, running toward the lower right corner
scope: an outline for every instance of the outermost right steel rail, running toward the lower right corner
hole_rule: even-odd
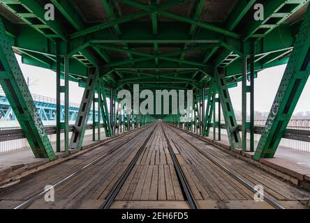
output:
[[[263,197],[263,199],[265,199],[268,203],[270,203],[270,205],[272,205],[274,208],[277,209],[285,209],[283,206],[281,206],[280,203],[274,201],[274,199],[272,199],[271,197],[269,197],[268,195],[265,195],[263,193],[261,193],[260,191],[258,191],[255,187],[253,187],[253,185],[251,185],[251,183],[247,182],[246,180],[244,180],[243,178],[237,176],[237,174],[235,174],[234,171],[228,169],[227,167],[223,166],[223,164],[220,164],[218,161],[216,161],[213,157],[203,153],[200,148],[198,148],[198,146],[195,146],[194,144],[192,144],[188,139],[185,139],[184,137],[182,137],[182,135],[180,135],[178,132],[176,132],[175,130],[172,129],[173,126],[169,125],[170,130],[172,130],[173,132],[175,132],[175,134],[177,134],[179,137],[181,137],[184,141],[186,141],[189,145],[193,146],[193,148],[195,148],[199,153],[201,153],[202,155],[204,155],[205,157],[207,157],[208,160],[210,160],[211,162],[213,162],[214,164],[216,164],[216,166],[220,167],[221,169],[223,169],[223,171],[226,171],[227,174],[229,174],[230,176],[232,176],[233,178],[235,178],[236,180],[238,180],[240,183],[242,183],[242,185],[244,185],[245,187],[249,188],[249,190],[251,190],[252,192],[260,195],[260,197]],[[175,127],[173,127],[175,128]],[[185,132],[186,133],[186,132]]]

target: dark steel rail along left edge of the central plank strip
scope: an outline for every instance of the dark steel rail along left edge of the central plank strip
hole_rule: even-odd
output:
[[[121,190],[121,187],[124,185],[127,177],[129,176],[129,174],[133,170],[133,167],[135,167],[135,163],[138,161],[140,155],[145,150],[145,146],[147,144],[147,141],[149,141],[149,138],[152,136],[152,134],[153,134],[155,129],[156,129],[156,125],[154,126],[154,129],[149,133],[149,135],[147,136],[147,139],[145,139],[144,143],[139,148],[138,153],[135,154],[135,157],[133,157],[133,160],[131,160],[131,163],[128,165],[128,167],[126,168],[124,173],[121,174],[121,177],[117,181],[115,187],[113,187],[113,190],[112,190],[112,192],[110,192],[108,198],[105,200],[105,202],[101,206],[101,209],[109,209],[110,208],[110,206],[111,206],[112,202],[114,201],[115,197],[117,197],[117,194],[119,193],[119,190]]]

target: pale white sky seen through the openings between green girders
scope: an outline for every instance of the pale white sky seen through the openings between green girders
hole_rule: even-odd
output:
[[[22,72],[27,81],[29,77],[29,89],[31,93],[44,95],[50,98],[56,98],[56,73],[35,66],[29,66],[21,63],[21,57],[17,55],[17,60],[20,63]],[[279,87],[281,77],[286,68],[286,65],[267,68],[258,73],[258,78],[255,79],[255,110],[259,112],[270,112],[270,107]],[[69,82],[69,100],[80,104],[84,89],[80,88],[76,82]],[[241,100],[241,82],[238,86],[229,89],[232,106],[235,111],[242,109]],[[309,103],[310,82],[308,80],[304,91],[300,97],[295,112],[310,111]],[[249,104],[249,103],[248,103]]]

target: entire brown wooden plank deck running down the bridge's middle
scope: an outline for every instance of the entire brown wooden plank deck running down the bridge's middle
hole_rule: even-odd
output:
[[[108,154],[56,187],[54,202],[46,202],[41,197],[27,206],[100,208],[140,148],[143,151],[110,208],[189,208],[168,145],[177,157],[199,208],[274,208],[266,201],[254,201],[251,190],[216,166],[207,155],[251,185],[262,185],[264,193],[285,208],[307,208],[304,204],[310,199],[309,192],[164,123],[130,132],[0,190],[0,208],[15,208],[43,191],[46,185],[53,185],[101,155]]]

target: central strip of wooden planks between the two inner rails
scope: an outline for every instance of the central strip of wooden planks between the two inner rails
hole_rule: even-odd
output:
[[[184,201],[161,125],[157,125],[116,201]]]

